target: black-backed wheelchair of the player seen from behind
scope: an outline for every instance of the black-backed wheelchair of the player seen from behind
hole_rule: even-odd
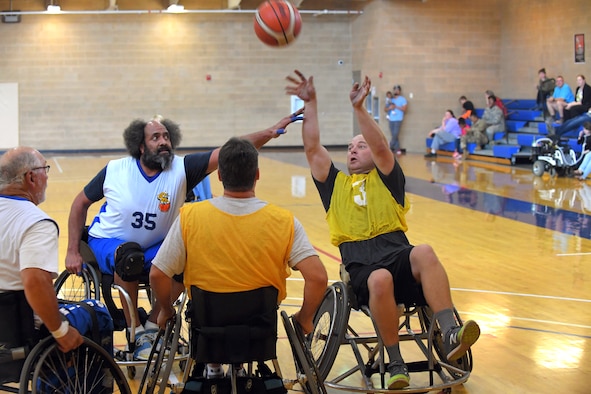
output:
[[[294,356],[296,378],[282,377],[276,355],[277,289],[265,287],[237,293],[213,293],[191,287],[185,316],[175,315],[161,330],[162,349],[154,347],[140,386],[143,393],[287,393],[299,384],[309,394],[325,394],[318,371],[299,325],[282,311],[281,317]],[[174,352],[175,328],[185,318],[190,326],[191,357],[182,382],[171,381],[170,359]],[[205,378],[206,362],[228,365],[226,378]],[[165,365],[162,366],[162,363]],[[246,364],[245,376],[235,366]]]

